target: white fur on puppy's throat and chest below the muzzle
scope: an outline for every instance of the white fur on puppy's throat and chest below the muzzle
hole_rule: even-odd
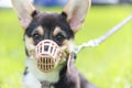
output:
[[[29,73],[31,73],[38,81],[57,82],[59,79],[59,72],[62,67],[57,67],[50,73],[43,73],[37,68],[33,58],[26,59],[26,66]]]

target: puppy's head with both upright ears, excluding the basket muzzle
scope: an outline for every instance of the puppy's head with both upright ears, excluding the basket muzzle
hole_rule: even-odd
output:
[[[62,58],[74,52],[74,36],[85,20],[90,0],[69,0],[62,13],[37,11],[28,0],[12,0],[24,29],[26,54],[35,58],[35,48],[44,40],[56,43]]]

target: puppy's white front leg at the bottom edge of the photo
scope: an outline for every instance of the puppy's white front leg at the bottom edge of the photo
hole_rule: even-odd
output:
[[[41,88],[41,82],[31,73],[24,75],[22,82],[23,88]]]

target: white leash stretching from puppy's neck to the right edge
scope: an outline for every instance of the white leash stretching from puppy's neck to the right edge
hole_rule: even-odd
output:
[[[119,31],[124,24],[127,24],[128,22],[130,22],[132,20],[132,15],[128,16],[127,19],[124,19],[122,22],[120,22],[119,24],[117,24],[116,26],[113,26],[108,33],[106,33],[105,35],[96,38],[96,40],[90,40],[87,43],[84,43],[79,46],[75,47],[75,53],[79,53],[84,47],[95,47],[98,46],[100,43],[102,43],[103,41],[106,41],[110,35],[112,35],[113,33],[116,33],[117,31]]]

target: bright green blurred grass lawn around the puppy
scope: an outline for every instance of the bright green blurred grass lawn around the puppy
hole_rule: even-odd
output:
[[[131,7],[94,6],[76,35],[76,44],[107,33],[132,13]],[[14,12],[0,9],[0,88],[21,88],[25,61],[23,32]],[[129,22],[98,47],[82,50],[76,62],[78,69],[99,88],[132,88],[131,38],[132,22]]]

